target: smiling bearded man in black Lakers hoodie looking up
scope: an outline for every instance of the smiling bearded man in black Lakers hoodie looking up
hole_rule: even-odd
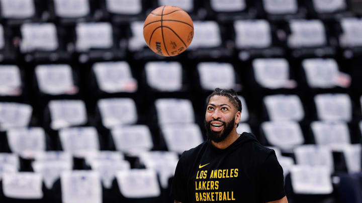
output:
[[[208,140],[179,159],[171,189],[175,202],[288,203],[274,150],[251,133],[237,134],[241,109],[232,89],[216,88],[207,98]]]

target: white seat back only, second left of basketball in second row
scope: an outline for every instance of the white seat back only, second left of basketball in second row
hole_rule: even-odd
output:
[[[78,23],[75,32],[75,46],[78,51],[110,49],[113,46],[113,29],[110,23]]]

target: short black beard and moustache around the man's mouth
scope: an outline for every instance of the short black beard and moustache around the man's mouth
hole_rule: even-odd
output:
[[[224,130],[220,132],[215,132],[211,129],[211,122],[212,121],[219,121],[223,123]],[[234,129],[235,118],[233,118],[230,122],[226,123],[221,120],[211,120],[207,122],[205,120],[205,128],[206,128],[206,135],[209,140],[219,143],[226,139],[226,137],[230,134],[230,132]]]

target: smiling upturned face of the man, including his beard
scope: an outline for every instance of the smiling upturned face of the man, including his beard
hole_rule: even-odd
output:
[[[205,114],[205,127],[208,138],[214,142],[223,141],[235,127],[235,119],[238,118],[236,116],[237,112],[228,97],[212,96]]]

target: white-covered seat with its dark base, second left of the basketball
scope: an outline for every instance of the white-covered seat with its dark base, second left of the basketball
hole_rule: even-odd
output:
[[[75,26],[75,50],[79,62],[89,60],[117,60],[125,55],[125,47],[116,43],[114,28],[108,22],[77,23]]]

